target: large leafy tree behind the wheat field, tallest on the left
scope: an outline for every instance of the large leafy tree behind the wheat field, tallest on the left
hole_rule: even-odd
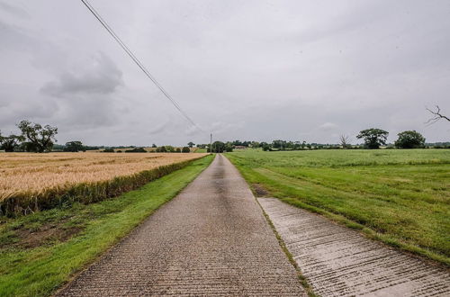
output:
[[[22,136],[28,139],[35,152],[43,153],[50,151],[53,147],[53,140],[58,133],[58,128],[45,125],[42,127],[39,123],[23,120],[17,125],[22,131]]]

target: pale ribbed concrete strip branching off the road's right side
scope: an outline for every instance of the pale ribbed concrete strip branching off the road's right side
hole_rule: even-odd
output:
[[[321,296],[450,296],[442,267],[277,199],[258,201]]]

